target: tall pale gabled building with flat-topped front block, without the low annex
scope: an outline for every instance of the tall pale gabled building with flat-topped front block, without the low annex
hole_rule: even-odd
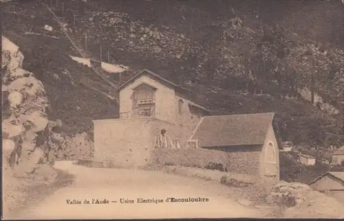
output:
[[[201,118],[211,113],[190,101],[188,90],[149,70],[118,91],[120,118],[94,120],[94,156],[120,167],[147,165],[157,146],[185,147]]]

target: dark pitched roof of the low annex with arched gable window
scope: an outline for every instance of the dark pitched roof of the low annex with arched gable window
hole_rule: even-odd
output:
[[[264,144],[274,113],[204,116],[193,140],[200,147]]]

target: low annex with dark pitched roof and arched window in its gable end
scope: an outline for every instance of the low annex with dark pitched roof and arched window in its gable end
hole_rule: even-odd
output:
[[[203,149],[224,151],[227,170],[279,179],[279,146],[273,113],[204,116],[192,140]]]

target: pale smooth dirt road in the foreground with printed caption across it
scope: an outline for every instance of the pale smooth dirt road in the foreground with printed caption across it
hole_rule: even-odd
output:
[[[64,218],[254,218],[259,211],[219,196],[220,185],[183,178],[160,171],[88,168],[70,161],[56,162],[76,176],[74,183],[59,189],[39,204],[24,211],[23,219]],[[160,203],[141,202],[162,200]],[[208,202],[166,202],[166,198],[208,198]],[[109,204],[92,204],[108,200]],[[134,203],[121,203],[120,199]],[[81,202],[81,204],[68,204]],[[89,200],[89,204],[84,204]],[[189,199],[191,200],[191,199]],[[116,202],[111,202],[116,201]],[[142,201],[142,200],[141,200]]]

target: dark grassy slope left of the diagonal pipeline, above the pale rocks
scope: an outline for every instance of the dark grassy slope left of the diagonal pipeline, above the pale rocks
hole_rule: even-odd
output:
[[[69,58],[69,55],[80,55],[65,39],[56,21],[45,8],[34,1],[7,3],[6,7],[2,17],[3,35],[19,45],[25,57],[23,68],[33,72],[43,82],[50,101],[50,118],[63,119],[67,133],[87,131],[92,134],[92,120],[117,116],[118,106],[115,101],[81,83],[94,81],[104,84],[88,67]],[[37,26],[34,27],[34,24]],[[60,39],[24,34],[25,31],[42,33],[39,28],[44,24],[52,25],[54,36]],[[102,87],[98,89],[103,90]]]

